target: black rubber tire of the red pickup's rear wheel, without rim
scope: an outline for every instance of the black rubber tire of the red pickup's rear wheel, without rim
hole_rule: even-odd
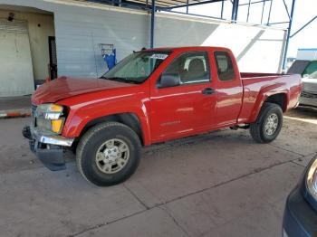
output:
[[[277,128],[273,134],[268,134],[265,130],[267,119],[275,114],[278,118]],[[283,111],[281,107],[274,103],[265,102],[255,123],[250,124],[250,134],[258,143],[270,143],[280,133],[283,126]]]

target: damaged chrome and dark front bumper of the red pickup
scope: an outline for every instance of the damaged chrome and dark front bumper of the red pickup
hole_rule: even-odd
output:
[[[24,127],[22,133],[29,139],[31,150],[44,166],[52,171],[66,168],[64,147],[71,147],[73,138],[44,135],[30,126]]]

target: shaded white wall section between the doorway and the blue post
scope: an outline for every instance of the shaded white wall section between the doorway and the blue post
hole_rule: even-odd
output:
[[[148,15],[82,7],[55,12],[57,62],[60,75],[92,76],[107,70],[100,43],[113,43],[119,60],[148,45]]]

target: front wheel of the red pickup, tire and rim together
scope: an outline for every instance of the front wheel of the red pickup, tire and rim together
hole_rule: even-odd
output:
[[[131,128],[117,122],[102,123],[80,140],[77,166],[95,185],[117,185],[137,169],[140,147],[139,137]]]

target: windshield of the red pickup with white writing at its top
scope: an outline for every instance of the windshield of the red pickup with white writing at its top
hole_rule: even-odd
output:
[[[101,76],[111,81],[139,84],[146,81],[170,54],[166,51],[140,51],[130,54]]]

